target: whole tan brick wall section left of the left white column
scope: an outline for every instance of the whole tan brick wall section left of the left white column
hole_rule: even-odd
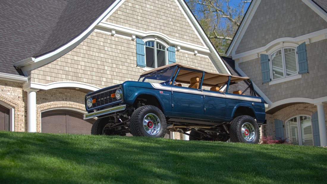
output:
[[[21,83],[0,80],[0,101],[14,108],[15,131],[25,131],[26,129],[25,104],[27,106],[27,98],[25,93]]]

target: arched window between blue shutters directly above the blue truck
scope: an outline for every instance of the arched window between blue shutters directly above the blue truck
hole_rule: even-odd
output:
[[[157,68],[167,64],[167,48],[157,41],[145,42],[146,67]]]

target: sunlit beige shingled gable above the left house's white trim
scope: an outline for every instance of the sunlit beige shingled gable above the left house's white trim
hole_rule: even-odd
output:
[[[204,46],[174,0],[126,0],[106,22]]]

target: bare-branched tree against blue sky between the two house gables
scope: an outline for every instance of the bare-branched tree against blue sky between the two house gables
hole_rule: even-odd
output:
[[[224,55],[251,0],[186,0],[219,54]]]

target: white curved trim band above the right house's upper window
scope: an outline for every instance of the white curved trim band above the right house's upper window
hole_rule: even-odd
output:
[[[253,49],[253,50],[250,50],[250,51],[247,51],[247,52],[244,52],[244,53],[240,53],[240,54],[234,54],[234,55],[232,55],[232,58],[234,60],[239,59],[239,58],[243,58],[243,62],[244,61],[249,61],[250,59],[246,59],[245,57],[250,58],[250,55],[266,54],[268,52],[268,50],[270,50],[271,47],[273,47],[276,44],[280,45],[281,47],[287,46],[288,43],[295,43],[295,44],[299,45],[302,42],[307,41],[308,39],[309,39],[310,43],[313,43],[313,42],[316,42],[316,41],[326,39],[326,37],[325,37],[326,34],[327,34],[327,29],[322,29],[322,30],[315,31],[315,32],[312,32],[312,33],[309,33],[309,34],[306,34],[306,35],[296,37],[296,38],[291,38],[291,37],[278,38],[278,39],[275,39],[275,40],[271,41],[270,43],[268,43],[264,47]],[[256,57],[256,58],[258,58],[258,57]]]

